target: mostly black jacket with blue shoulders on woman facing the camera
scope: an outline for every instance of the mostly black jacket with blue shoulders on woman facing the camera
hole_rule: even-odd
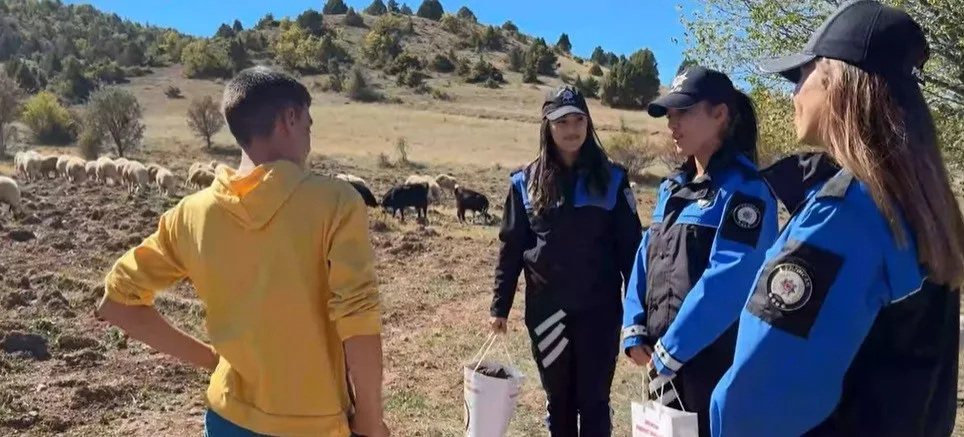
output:
[[[530,306],[618,314],[642,238],[626,170],[609,165],[609,183],[601,196],[590,193],[584,171],[566,172],[559,181],[561,202],[537,214],[527,189],[531,167],[512,174],[506,195],[492,316],[508,316],[523,271],[527,298],[532,293],[545,297],[529,301]]]

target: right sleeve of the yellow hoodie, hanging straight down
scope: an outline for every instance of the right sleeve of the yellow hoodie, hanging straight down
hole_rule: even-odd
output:
[[[328,227],[329,316],[342,341],[381,333],[375,280],[375,252],[368,233],[368,211],[351,185],[344,184]]]

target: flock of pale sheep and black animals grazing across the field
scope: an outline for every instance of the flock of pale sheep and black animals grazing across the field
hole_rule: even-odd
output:
[[[217,161],[209,163],[196,162],[190,166],[184,187],[188,185],[195,189],[203,189],[214,182]],[[144,164],[127,158],[109,158],[106,156],[87,161],[72,155],[43,155],[30,150],[17,152],[14,156],[14,166],[19,178],[24,181],[35,181],[47,178],[62,178],[70,184],[103,184],[124,185],[128,194],[134,195],[149,190],[153,185],[165,196],[174,194],[177,180],[174,173],[158,164]],[[427,214],[429,203],[439,203],[444,192],[448,191],[455,198],[459,221],[465,221],[465,211],[474,211],[477,215],[488,217],[489,200],[485,195],[463,188],[455,177],[440,174],[436,177],[426,175],[411,175],[404,183],[393,186],[382,197],[381,202],[375,199],[368,183],[357,176],[338,174],[337,179],[350,183],[361,194],[365,204],[370,207],[381,205],[386,211],[401,213],[405,220],[405,209],[413,207],[419,217]],[[21,203],[21,192],[17,182],[9,177],[0,176],[0,203],[10,205],[14,215],[24,213]]]

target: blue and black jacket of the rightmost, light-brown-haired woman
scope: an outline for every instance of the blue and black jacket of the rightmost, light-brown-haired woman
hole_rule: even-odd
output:
[[[792,216],[746,288],[712,435],[950,435],[959,294],[926,281],[913,235],[899,245],[866,186],[826,155],[765,172]]]

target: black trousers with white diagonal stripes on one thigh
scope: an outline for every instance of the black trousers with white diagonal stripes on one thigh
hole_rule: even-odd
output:
[[[570,314],[530,302],[526,328],[546,391],[551,437],[610,437],[609,393],[619,355],[621,309]]]

